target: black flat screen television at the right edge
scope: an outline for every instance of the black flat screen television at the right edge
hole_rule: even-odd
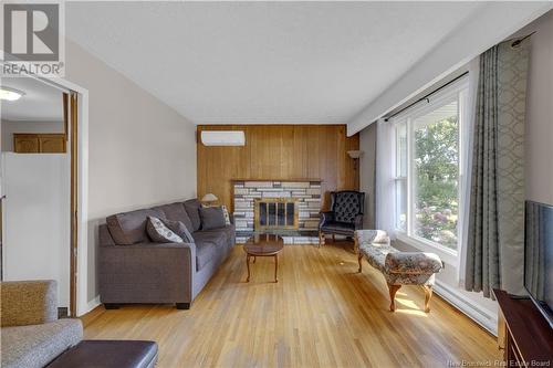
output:
[[[525,202],[524,287],[553,328],[553,206]]]

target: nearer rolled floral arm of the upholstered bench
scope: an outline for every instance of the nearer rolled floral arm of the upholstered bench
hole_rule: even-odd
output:
[[[384,266],[388,273],[435,274],[444,269],[444,263],[435,253],[397,252],[386,255]]]

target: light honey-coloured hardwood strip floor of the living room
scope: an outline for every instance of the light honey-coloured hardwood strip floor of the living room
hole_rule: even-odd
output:
[[[344,244],[342,244],[344,245]],[[251,264],[236,246],[189,311],[169,305],[98,307],[85,338],[154,339],[158,367],[446,367],[498,359],[495,339],[437,295],[403,287],[388,311],[384,277],[357,273],[351,245],[284,246]],[[365,262],[365,261],[364,261]]]

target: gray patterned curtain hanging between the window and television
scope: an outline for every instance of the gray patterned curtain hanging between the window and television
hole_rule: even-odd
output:
[[[465,287],[523,293],[524,119],[530,42],[480,55]]]

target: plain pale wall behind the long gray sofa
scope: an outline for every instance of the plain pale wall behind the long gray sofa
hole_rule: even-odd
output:
[[[88,269],[79,293],[91,308],[97,225],[113,213],[196,196],[196,127],[71,41],[65,64],[65,80],[88,90]]]

